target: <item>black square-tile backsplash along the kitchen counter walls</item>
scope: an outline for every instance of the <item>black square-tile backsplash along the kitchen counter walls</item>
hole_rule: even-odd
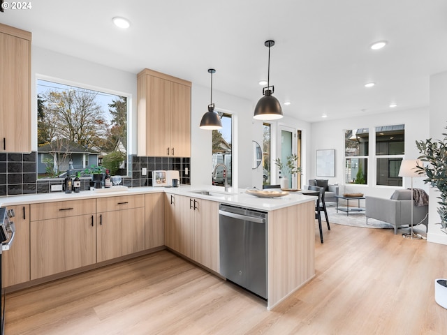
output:
[[[0,154],[0,196],[34,193],[49,193],[51,185],[60,185],[63,179],[37,179],[37,152],[31,154]],[[180,182],[191,184],[191,158],[189,157],[152,157],[129,156],[131,177],[123,177],[124,186],[152,186],[152,171],[179,170]],[[142,168],[147,174],[142,175]],[[186,172],[187,171],[187,172]],[[187,174],[186,174],[187,173]],[[81,191],[89,189],[89,179],[81,179]]]

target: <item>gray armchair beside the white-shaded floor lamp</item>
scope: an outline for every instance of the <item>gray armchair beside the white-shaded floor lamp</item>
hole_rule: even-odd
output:
[[[411,201],[411,190],[396,190],[390,199],[365,197],[366,223],[375,218],[394,226],[394,233],[400,226],[411,225],[411,206],[413,206],[413,225],[423,224],[428,231],[428,205],[416,206]]]

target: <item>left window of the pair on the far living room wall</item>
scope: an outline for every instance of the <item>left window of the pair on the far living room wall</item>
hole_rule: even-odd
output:
[[[369,128],[351,129],[344,133],[345,182],[367,184]]]

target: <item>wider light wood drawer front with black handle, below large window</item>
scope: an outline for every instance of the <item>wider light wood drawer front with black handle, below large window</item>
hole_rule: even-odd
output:
[[[31,204],[31,221],[48,218],[67,218],[68,216],[95,214],[96,200],[70,200]]]

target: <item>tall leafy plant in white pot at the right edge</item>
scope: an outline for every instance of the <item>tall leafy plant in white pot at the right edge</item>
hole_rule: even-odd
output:
[[[447,127],[445,127],[447,129]],[[427,165],[418,166],[417,171],[421,174],[425,172],[427,177],[425,184],[430,183],[441,193],[438,202],[437,212],[441,218],[441,231],[447,234],[447,133],[443,133],[444,140],[416,141],[416,146],[421,154],[418,157]],[[434,280],[434,299],[440,306],[447,308],[447,281],[445,278]]]

